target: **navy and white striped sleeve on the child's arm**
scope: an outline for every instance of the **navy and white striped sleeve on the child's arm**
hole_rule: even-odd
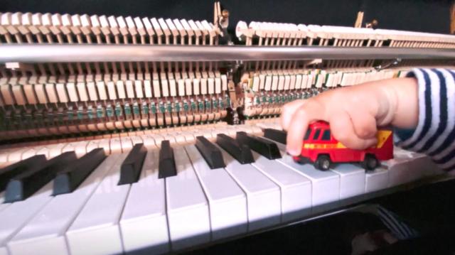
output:
[[[396,131],[397,146],[430,156],[444,170],[455,169],[455,71],[418,68],[419,122],[407,134]]]

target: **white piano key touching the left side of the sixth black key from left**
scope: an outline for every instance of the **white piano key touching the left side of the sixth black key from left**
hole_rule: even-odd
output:
[[[213,240],[247,232],[247,197],[224,168],[210,169],[196,146],[186,146],[210,207]]]

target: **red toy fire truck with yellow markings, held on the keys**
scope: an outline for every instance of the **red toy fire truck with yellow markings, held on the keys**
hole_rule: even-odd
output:
[[[298,163],[313,163],[319,170],[328,170],[332,163],[361,163],[365,170],[373,170],[379,166],[379,161],[393,158],[392,131],[380,129],[378,143],[365,150],[346,148],[333,138],[330,126],[318,121],[310,124],[304,137],[300,156],[294,156]]]

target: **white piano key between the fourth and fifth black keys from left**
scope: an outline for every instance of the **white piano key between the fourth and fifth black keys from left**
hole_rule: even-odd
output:
[[[129,191],[120,219],[125,252],[162,254],[169,251],[166,190],[164,179],[158,178],[158,162],[159,151],[150,150],[144,160],[141,179]]]

